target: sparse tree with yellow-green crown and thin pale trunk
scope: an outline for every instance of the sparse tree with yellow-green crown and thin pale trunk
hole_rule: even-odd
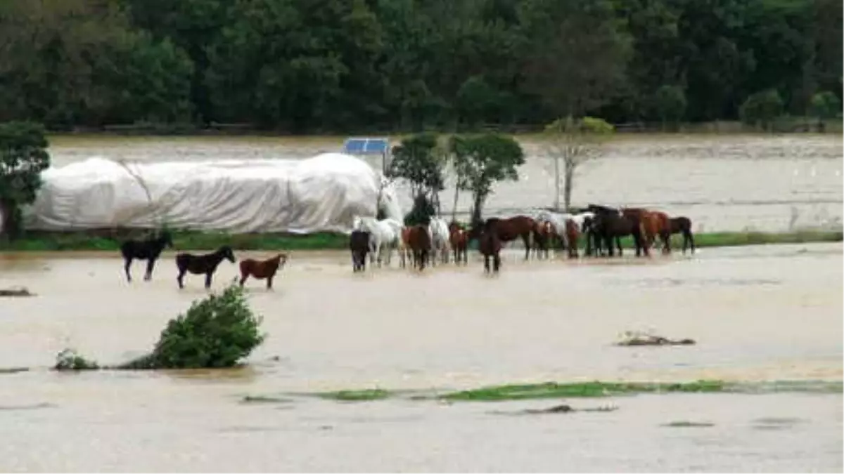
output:
[[[554,160],[555,209],[560,209],[560,162],[563,164],[563,204],[568,212],[577,169],[603,154],[603,143],[613,132],[612,125],[594,117],[575,120],[568,116],[545,127],[545,146],[549,157]]]

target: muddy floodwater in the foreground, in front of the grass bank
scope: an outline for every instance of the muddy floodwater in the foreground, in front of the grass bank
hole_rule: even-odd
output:
[[[241,252],[239,258],[262,256]],[[474,256],[473,256],[474,257]],[[395,262],[395,259],[394,259]],[[395,263],[393,264],[395,266]],[[531,261],[508,252],[424,274],[353,275],[345,253],[294,252],[275,291],[247,283],[267,341],[248,369],[57,374],[64,347],[112,364],[143,353],[206,294],[121,261],[0,256],[0,471],[841,472],[840,393],[674,394],[442,404],[295,393],[446,391],[545,380],[844,380],[844,245],[704,249],[694,258]],[[235,277],[224,262],[214,280]],[[615,347],[622,331],[688,347]],[[294,395],[290,395],[290,394]],[[245,404],[244,396],[280,396]],[[502,416],[549,407],[613,412]]]

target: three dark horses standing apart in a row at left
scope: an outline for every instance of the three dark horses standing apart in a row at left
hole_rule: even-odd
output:
[[[126,272],[126,279],[132,283],[132,267],[133,260],[147,261],[147,271],[143,275],[143,279],[149,281],[153,277],[153,268],[155,261],[161,256],[161,252],[165,247],[172,247],[173,240],[170,233],[166,230],[157,237],[150,237],[146,240],[127,240],[120,246],[120,253],[123,256],[124,266]],[[273,278],[279,271],[280,267],[284,267],[287,263],[288,255],[286,253],[279,253],[267,260],[255,260],[252,258],[245,258],[240,262],[241,280],[240,285],[243,286],[249,277],[257,280],[267,280],[267,288],[273,288]],[[176,283],[179,283],[179,288],[185,288],[184,278],[187,273],[194,275],[205,275],[205,288],[211,288],[211,279],[214,272],[217,272],[220,262],[228,260],[235,263],[235,253],[231,250],[229,245],[223,245],[214,252],[194,255],[187,252],[176,254],[176,269],[178,276]]]

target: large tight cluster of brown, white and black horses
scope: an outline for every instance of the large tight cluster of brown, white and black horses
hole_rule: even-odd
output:
[[[661,211],[643,207],[608,207],[590,204],[573,213],[542,210],[533,215],[511,218],[488,218],[471,224],[468,229],[445,219],[430,218],[429,224],[404,226],[394,218],[355,218],[349,238],[353,272],[377,261],[390,264],[392,250],[398,251],[401,267],[412,261],[414,268],[447,263],[449,254],[458,265],[467,263],[466,251],[470,241],[477,240],[484,256],[484,271],[498,272],[500,250],[504,244],[521,239],[525,260],[531,252],[538,258],[549,258],[551,248],[563,249],[569,258],[579,257],[579,242],[585,240],[585,256],[622,255],[621,239],[632,237],[636,256],[650,256],[650,249],[661,242],[663,253],[671,253],[671,236],[683,235],[683,253],[687,248],[695,252],[692,222],[684,216],[670,217]],[[490,268],[491,263],[491,268]]]

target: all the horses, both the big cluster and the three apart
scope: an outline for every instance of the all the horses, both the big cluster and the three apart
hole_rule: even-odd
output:
[[[430,218],[428,224],[404,225],[394,218],[378,220],[371,217],[355,217],[349,236],[349,250],[352,254],[353,272],[363,272],[369,257],[371,264],[377,261],[387,265],[391,262],[392,250],[398,251],[401,267],[411,261],[420,271],[426,265],[437,262],[448,263],[450,256],[459,265],[468,264],[468,246],[478,242],[478,250],[484,257],[484,272],[499,272],[500,251],[508,242],[521,239],[525,247],[525,260],[531,252],[537,258],[549,258],[552,248],[563,249],[569,258],[579,257],[579,243],[585,241],[585,256],[614,256],[615,249],[622,255],[621,239],[633,238],[636,256],[650,256],[650,249],[662,242],[663,253],[671,252],[671,235],[683,235],[683,253],[687,247],[695,252],[695,239],[691,232],[690,218],[669,217],[661,211],[641,207],[606,207],[597,204],[576,213],[555,213],[542,210],[532,216],[517,215],[511,218],[488,218],[465,229],[457,222],[446,223],[439,217]],[[170,233],[164,231],[157,237],[146,240],[127,240],[120,247],[124,270],[132,283],[130,268],[134,260],[147,261],[143,279],[152,278],[155,262],[165,247],[172,247]],[[205,275],[205,288],[211,288],[211,280],[219,264],[228,260],[235,263],[235,254],[229,245],[223,245],[214,252],[194,255],[181,252],[176,255],[176,282],[184,288],[188,273]],[[240,261],[241,287],[249,277],[266,280],[267,288],[273,288],[273,278],[284,267],[288,254],[279,253],[267,260],[246,258]]]

